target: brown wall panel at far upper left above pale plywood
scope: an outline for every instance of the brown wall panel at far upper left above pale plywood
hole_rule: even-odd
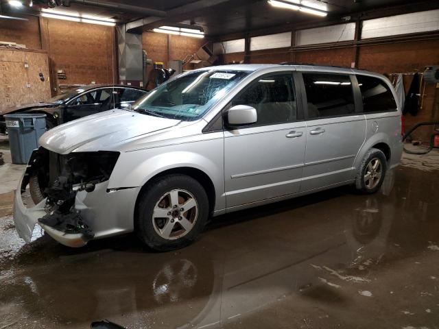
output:
[[[26,45],[28,49],[41,49],[40,27],[37,16],[25,16],[28,21],[0,19],[0,41]]]

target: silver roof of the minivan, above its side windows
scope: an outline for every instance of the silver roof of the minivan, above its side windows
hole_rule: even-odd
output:
[[[348,74],[366,74],[375,75],[380,78],[385,78],[384,75],[379,73],[364,71],[359,69],[351,69],[343,66],[325,66],[325,65],[313,65],[313,64],[300,64],[300,63],[282,63],[282,64],[229,64],[219,66],[208,66],[202,70],[227,70],[227,71],[263,71],[265,69],[284,69],[285,67],[292,67],[297,71],[320,71],[320,72],[333,72],[333,73],[348,73]],[[270,70],[271,71],[271,70]]]

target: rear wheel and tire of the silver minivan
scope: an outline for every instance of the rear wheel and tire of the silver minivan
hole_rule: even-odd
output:
[[[370,149],[357,171],[355,188],[363,194],[376,193],[383,184],[386,171],[387,159],[383,151]]]

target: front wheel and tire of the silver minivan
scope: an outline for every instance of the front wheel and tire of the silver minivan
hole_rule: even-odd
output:
[[[166,175],[140,196],[137,234],[154,250],[174,250],[192,243],[208,217],[209,199],[201,184],[187,175]]]

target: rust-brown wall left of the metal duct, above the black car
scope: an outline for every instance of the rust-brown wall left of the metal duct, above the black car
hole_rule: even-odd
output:
[[[28,21],[0,20],[0,40],[47,53],[51,95],[58,95],[60,84],[113,82],[117,71],[114,27],[23,17]],[[58,80],[58,70],[66,72],[66,80]]]

